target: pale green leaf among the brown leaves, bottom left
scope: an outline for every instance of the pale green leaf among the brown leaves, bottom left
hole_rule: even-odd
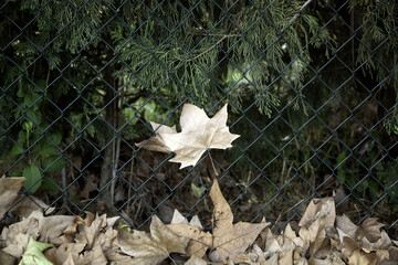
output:
[[[38,242],[31,236],[19,265],[53,265],[43,254],[43,251],[49,247],[54,247],[54,245]]]

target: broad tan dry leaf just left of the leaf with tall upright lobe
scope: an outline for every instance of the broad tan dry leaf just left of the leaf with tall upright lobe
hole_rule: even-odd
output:
[[[117,242],[122,251],[133,256],[130,262],[121,264],[159,264],[170,253],[185,254],[189,239],[171,232],[156,215],[150,223],[150,234],[142,231],[117,232]]]

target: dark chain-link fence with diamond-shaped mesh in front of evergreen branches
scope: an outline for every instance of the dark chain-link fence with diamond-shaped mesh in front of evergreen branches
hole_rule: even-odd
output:
[[[376,215],[396,231],[394,2],[24,0],[0,10],[0,167],[29,179],[27,197],[134,227],[174,209],[206,220],[212,159],[237,220],[280,229],[335,194],[355,221]],[[186,103],[210,116],[229,103],[241,137],[178,170],[172,153],[135,144],[155,136],[149,121],[178,124]]]

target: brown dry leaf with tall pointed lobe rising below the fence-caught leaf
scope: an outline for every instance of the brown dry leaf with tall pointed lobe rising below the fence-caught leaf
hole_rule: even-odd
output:
[[[188,224],[169,224],[167,226],[176,234],[191,239],[187,247],[188,255],[202,257],[210,247],[218,251],[223,263],[250,262],[244,254],[245,250],[270,223],[239,222],[232,224],[231,208],[223,198],[217,180],[211,187],[210,198],[214,204],[213,218],[216,220],[212,234]]]

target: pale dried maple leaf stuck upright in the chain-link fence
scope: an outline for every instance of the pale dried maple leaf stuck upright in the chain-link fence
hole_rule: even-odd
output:
[[[180,117],[181,132],[177,132],[176,127],[150,123],[156,137],[137,146],[153,151],[175,152],[176,157],[170,162],[180,162],[180,168],[195,166],[206,150],[232,147],[231,142],[239,137],[229,131],[227,107],[226,104],[209,118],[203,109],[185,104]]]

